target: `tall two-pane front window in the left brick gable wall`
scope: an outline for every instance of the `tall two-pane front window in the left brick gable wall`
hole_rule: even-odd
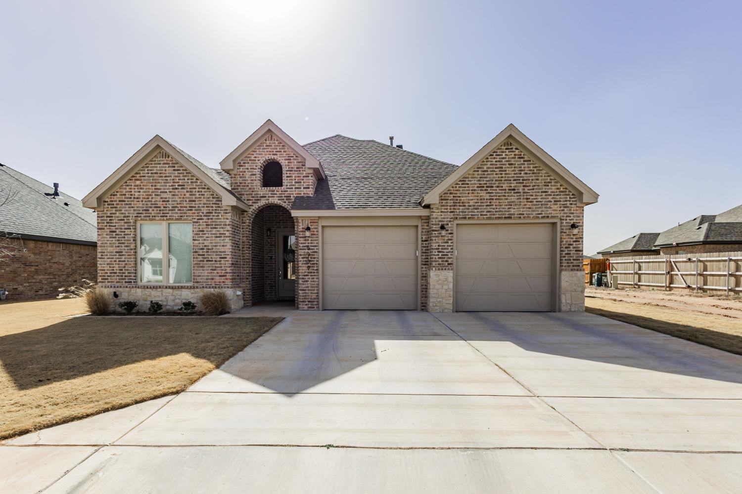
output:
[[[137,229],[139,283],[193,282],[193,225],[184,221],[142,221]]]

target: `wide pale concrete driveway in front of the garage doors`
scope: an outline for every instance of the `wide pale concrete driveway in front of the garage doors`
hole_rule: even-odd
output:
[[[7,441],[0,491],[738,493],[741,424],[741,356],[599,316],[292,313],[185,393]]]

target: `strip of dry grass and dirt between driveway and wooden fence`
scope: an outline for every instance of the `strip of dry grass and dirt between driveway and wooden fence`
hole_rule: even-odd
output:
[[[742,298],[585,288],[585,310],[742,355]]]

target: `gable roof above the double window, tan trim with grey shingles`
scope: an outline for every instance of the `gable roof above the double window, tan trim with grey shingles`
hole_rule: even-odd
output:
[[[114,173],[111,173],[98,187],[85,196],[82,199],[82,204],[93,209],[100,207],[103,198],[116,190],[127,178],[134,175],[160,149],[165,150],[165,153],[172,156],[175,161],[183,165],[185,169],[200,178],[211,190],[221,196],[223,205],[248,210],[247,204],[230,190],[231,181],[228,173],[207,167],[193,156],[185,153],[180,147],[174,146],[160,136],[151,138],[137,153],[128,158]]]

